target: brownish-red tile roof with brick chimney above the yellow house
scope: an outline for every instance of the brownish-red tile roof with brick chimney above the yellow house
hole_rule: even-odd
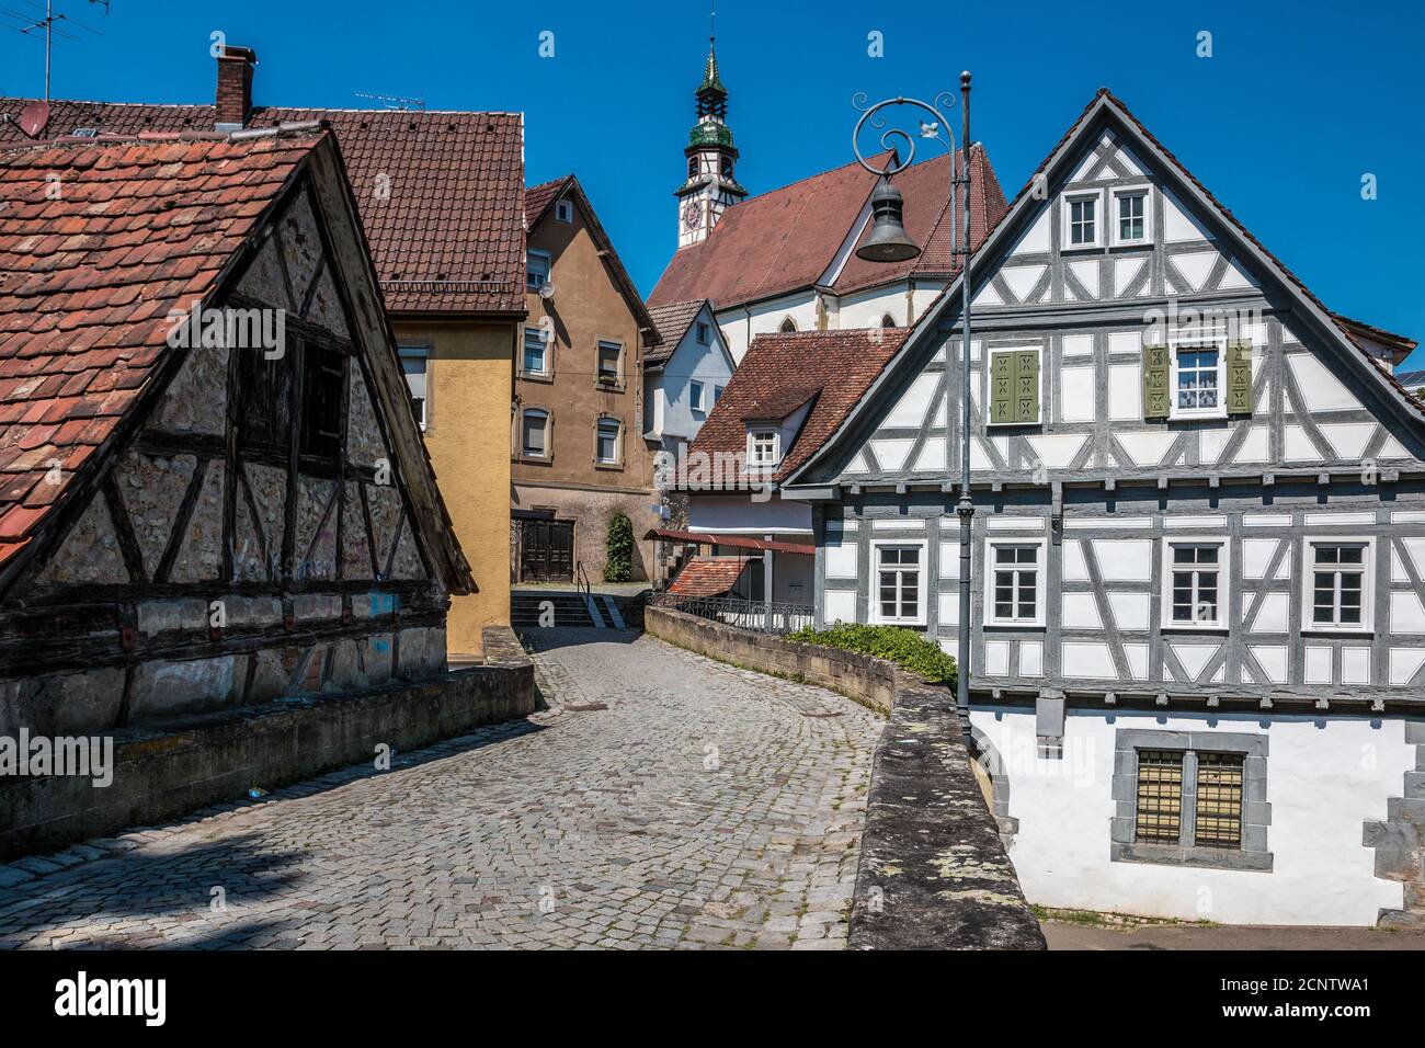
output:
[[[27,143],[0,98],[0,144]],[[524,312],[524,130],[517,113],[256,106],[254,128],[326,120],[336,133],[392,312]],[[44,137],[212,131],[212,106],[51,101]]]

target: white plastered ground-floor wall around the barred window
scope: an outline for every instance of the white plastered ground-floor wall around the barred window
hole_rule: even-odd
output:
[[[970,713],[998,750],[1019,820],[1010,858],[1030,903],[1221,924],[1374,925],[1402,885],[1374,875],[1364,823],[1385,818],[1415,767],[1402,720],[1159,716],[1069,710],[1063,757],[1042,759],[1035,711]],[[1265,733],[1271,871],[1112,861],[1119,729]]]

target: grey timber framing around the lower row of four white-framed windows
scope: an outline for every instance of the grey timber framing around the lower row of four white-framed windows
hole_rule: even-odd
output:
[[[929,540],[931,555],[926,565],[925,585],[928,590],[928,617],[923,629],[929,639],[950,644],[958,627],[940,622],[939,597],[958,592],[958,572],[946,575],[939,563],[939,543],[955,542],[953,533],[946,533],[942,522],[953,526],[953,496],[939,490],[911,490],[901,495],[891,492],[868,492],[845,503],[815,503],[821,506],[822,519],[846,519],[856,522],[855,532],[846,532],[845,540],[858,545],[856,579],[825,579],[818,573],[818,613],[825,606],[826,592],[856,593],[858,620],[866,622],[866,607],[871,597],[871,566],[868,542],[872,535],[891,536],[895,530],[875,528],[895,520],[919,520]],[[1043,539],[1049,530],[1053,503],[1049,492],[1003,490],[975,492],[976,515],[972,530],[972,552],[978,566],[983,562],[986,539]],[[1425,694],[1412,682],[1391,684],[1389,667],[1395,653],[1396,674],[1401,660],[1412,660],[1409,652],[1425,649],[1425,633],[1391,633],[1388,617],[1392,595],[1415,593],[1425,600],[1425,579],[1419,572],[1392,582],[1391,550],[1404,549],[1405,539],[1425,539],[1425,516],[1419,520],[1392,520],[1396,510],[1425,513],[1425,482],[1398,483],[1388,489],[1379,485],[1337,485],[1322,489],[1315,483],[1273,483],[1268,486],[1196,488],[1174,486],[1170,490],[1131,489],[1124,492],[1096,492],[1070,488],[1063,492],[1063,545],[1049,542],[1043,575],[1045,626],[1042,627],[990,627],[983,626],[985,585],[983,572],[978,570],[972,582],[972,670],[978,693],[1006,692],[1035,696],[1043,689],[1064,692],[1070,700],[1089,696],[1117,694],[1121,697],[1147,696],[1173,700],[1196,700],[1198,707],[1207,700],[1211,707],[1218,700],[1235,703],[1250,702],[1268,709],[1273,703],[1310,703],[1315,709],[1331,709],[1334,713],[1384,710],[1384,703],[1418,704]],[[1317,513],[1368,513],[1372,523],[1307,523],[1308,515]],[[1270,515],[1280,518],[1270,523],[1261,519]],[[1005,518],[1027,518],[1035,522],[1027,528],[990,528],[1003,525]],[[1221,518],[1221,533],[1228,549],[1228,592],[1224,595],[1227,609],[1226,629],[1183,630],[1166,629],[1161,622],[1163,595],[1167,582],[1161,569],[1163,543],[1178,538],[1196,538],[1204,532],[1203,525],[1193,528],[1170,526],[1181,518]],[[1247,523],[1247,518],[1251,523]],[[1140,520],[1143,526],[1124,528],[1124,519]],[[1305,545],[1310,539],[1332,535],[1374,536],[1375,558],[1372,562],[1374,629],[1362,633],[1317,633],[1302,630],[1302,585]],[[1139,582],[1110,582],[1104,576],[1104,565],[1099,563],[1102,549],[1090,543],[1104,540],[1140,540],[1150,543],[1151,576]],[[818,545],[825,535],[818,533]],[[1275,549],[1254,549],[1254,573],[1245,576],[1245,543],[1274,542]],[[1080,543],[1086,577],[1064,580],[1064,556],[1069,543]],[[1404,558],[1402,558],[1402,562]],[[1408,562],[1405,562],[1408,563]],[[1277,572],[1290,565],[1288,577],[1278,579]],[[1133,623],[1129,629],[1116,617],[1114,602],[1109,595],[1133,596],[1146,600],[1147,625]],[[1063,616],[1064,595],[1092,595],[1099,622],[1067,622]],[[1285,599],[1287,619],[1281,625],[1248,629],[1257,622],[1268,600]],[[1120,602],[1121,603],[1121,602]],[[1009,663],[1003,673],[990,676],[985,672],[986,636],[995,642],[1009,643]],[[1092,642],[1106,644],[1112,660],[1112,676],[1079,677],[1066,676],[1062,664],[1064,642]],[[1042,649],[1042,672],[1025,674],[1020,657],[1025,644],[1039,643]],[[1188,674],[1181,660],[1173,656],[1170,646],[1211,644],[1217,650],[1196,673]],[[1147,673],[1134,676],[1133,669],[1141,664],[1143,654],[1130,653],[1129,644],[1147,647]],[[1268,667],[1253,653],[1253,646],[1278,649],[1273,659],[1284,660],[1285,679],[1274,682]],[[1330,659],[1330,677],[1307,682],[1308,647],[1322,649],[1312,656],[1312,667]],[[1342,679],[1347,649],[1369,649],[1367,656],[1369,680],[1345,683]],[[1408,663],[1406,663],[1408,664]],[[1275,673],[1275,666],[1271,667]],[[1214,680],[1214,677],[1220,679]],[[1191,677],[1191,679],[1190,679]],[[1415,674],[1425,677],[1425,664]]]

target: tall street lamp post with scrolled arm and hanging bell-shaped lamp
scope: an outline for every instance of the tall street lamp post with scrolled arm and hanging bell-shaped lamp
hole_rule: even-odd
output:
[[[915,137],[901,128],[884,130],[881,134],[881,145],[884,150],[892,148],[895,143],[903,143],[906,145],[906,157],[902,161],[899,155],[892,157],[886,161],[884,168],[871,164],[861,154],[861,130],[869,121],[875,128],[885,128],[885,120],[881,117],[881,110],[889,106],[911,106],[919,108],[923,113],[933,117],[932,121],[921,121],[921,138],[935,138],[936,141],[946,145],[950,153],[950,245],[953,254],[960,257],[960,291],[963,292],[963,305],[960,308],[960,482],[959,482],[959,500],[955,506],[955,513],[960,520],[960,615],[959,615],[959,650],[956,657],[956,704],[959,707],[960,723],[969,733],[969,704],[970,704],[970,538],[972,525],[975,520],[975,503],[970,499],[970,74],[969,71],[960,73],[960,143],[962,150],[959,154],[955,151],[955,137],[950,133],[950,127],[945,117],[939,111],[939,106],[949,108],[955,104],[955,98],[948,91],[943,91],[935,97],[935,104],[919,101],[918,98],[886,98],[885,101],[876,103],[875,106],[866,106],[866,97],[858,94],[852,98],[852,104],[862,111],[861,120],[856,121],[856,130],[851,135],[851,148],[856,154],[856,163],[861,164],[866,171],[879,175],[881,183],[876,185],[875,192],[871,195],[871,208],[874,224],[871,227],[871,235],[866,237],[866,242],[856,248],[856,255],[872,262],[903,262],[915,258],[921,254],[921,248],[911,240],[909,234],[905,231],[902,224],[902,207],[903,201],[901,198],[899,190],[891,185],[891,178],[908,168],[915,161]],[[945,138],[940,138],[940,128],[945,128]],[[960,207],[960,190],[963,188],[965,212],[963,220],[958,221],[958,211]],[[956,230],[959,225],[959,230]],[[956,232],[959,232],[960,247],[955,248]],[[906,318],[908,324],[913,318]],[[949,354],[946,354],[946,365],[949,365]],[[950,426],[950,411],[953,408],[950,396],[950,384],[945,384],[945,448],[946,448],[946,469],[949,468],[949,426]]]

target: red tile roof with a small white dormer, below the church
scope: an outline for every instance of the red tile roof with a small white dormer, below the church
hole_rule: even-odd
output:
[[[782,481],[836,431],[909,334],[911,328],[855,328],[758,335],[698,431],[690,458],[698,452],[735,455],[742,475],[745,419],[765,418],[768,408],[762,405],[797,401],[789,413],[809,394],[815,396],[811,411],[791,446],[782,449],[772,476]]]

